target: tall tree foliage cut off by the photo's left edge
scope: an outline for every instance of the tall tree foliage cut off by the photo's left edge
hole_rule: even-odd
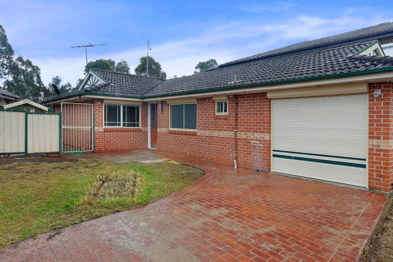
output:
[[[0,81],[9,76],[13,64],[14,50],[8,42],[6,30],[0,24]]]

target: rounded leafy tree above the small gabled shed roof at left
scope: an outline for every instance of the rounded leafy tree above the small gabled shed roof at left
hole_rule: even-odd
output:
[[[21,55],[12,62],[10,67],[10,77],[4,81],[4,87],[8,92],[20,96],[22,99],[28,98],[38,102],[49,95],[48,89],[43,85],[40,75],[40,68],[29,59],[24,59]]]

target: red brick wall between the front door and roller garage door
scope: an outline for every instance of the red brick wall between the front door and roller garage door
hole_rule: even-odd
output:
[[[233,164],[233,98],[228,99],[228,117],[215,115],[211,97],[198,98],[197,131],[170,131],[169,105],[161,101],[158,112],[159,151],[213,162]],[[237,165],[270,170],[270,100],[266,93],[237,96]]]

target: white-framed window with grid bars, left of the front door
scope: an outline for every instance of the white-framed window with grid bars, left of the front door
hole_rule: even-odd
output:
[[[139,106],[105,105],[105,127],[139,127]]]

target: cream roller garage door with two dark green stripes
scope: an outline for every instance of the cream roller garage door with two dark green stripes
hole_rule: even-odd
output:
[[[272,100],[272,171],[366,186],[367,94]]]

